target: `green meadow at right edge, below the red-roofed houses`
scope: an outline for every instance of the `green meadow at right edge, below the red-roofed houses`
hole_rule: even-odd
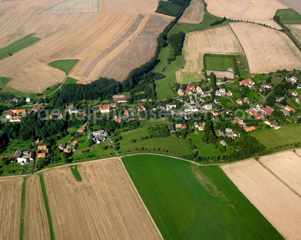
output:
[[[301,126],[295,123],[290,123],[281,126],[280,129],[266,129],[256,130],[250,133],[253,137],[265,145],[265,147],[274,147],[284,144],[301,143]]]

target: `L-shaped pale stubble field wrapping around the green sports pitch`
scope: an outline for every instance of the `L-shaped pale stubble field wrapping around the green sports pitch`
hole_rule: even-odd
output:
[[[186,34],[183,53],[186,65],[176,72],[178,83],[201,81],[204,78],[203,54],[242,54],[243,50],[229,26]]]

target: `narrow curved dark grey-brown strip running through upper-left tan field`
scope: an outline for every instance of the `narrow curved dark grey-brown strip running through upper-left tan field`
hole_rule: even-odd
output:
[[[118,47],[120,44],[122,44],[130,35],[133,34],[142,22],[145,15],[139,14],[135,20],[135,22],[132,24],[132,26],[129,28],[129,30],[123,34],[117,41],[115,41],[110,47],[105,49],[98,57],[96,57],[93,62],[88,66],[88,68],[83,73],[84,77],[88,77],[88,75],[91,73],[93,68],[97,65],[97,63],[103,59],[105,56],[107,56],[110,52],[112,52],[116,47]]]

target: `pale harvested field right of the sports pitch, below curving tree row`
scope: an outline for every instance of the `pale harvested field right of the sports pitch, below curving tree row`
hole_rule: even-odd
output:
[[[283,32],[252,23],[230,23],[246,53],[251,73],[301,68],[301,53]]]

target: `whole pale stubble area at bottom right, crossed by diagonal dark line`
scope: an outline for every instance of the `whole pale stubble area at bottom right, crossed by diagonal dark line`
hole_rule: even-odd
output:
[[[285,239],[299,239],[300,156],[288,151],[221,168]]]

